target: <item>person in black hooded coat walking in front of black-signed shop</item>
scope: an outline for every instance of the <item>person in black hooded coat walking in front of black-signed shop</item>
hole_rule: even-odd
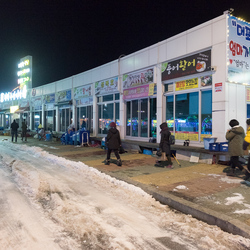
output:
[[[161,129],[161,141],[160,141],[160,150],[162,152],[162,156],[160,160],[156,162],[156,165],[159,165],[162,161],[166,161],[166,158],[168,160],[167,168],[173,168],[173,163],[171,160],[171,148],[170,148],[170,135],[171,132],[168,129],[168,124],[166,122],[163,122],[160,125]]]

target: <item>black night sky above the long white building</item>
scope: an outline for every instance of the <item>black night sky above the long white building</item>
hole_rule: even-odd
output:
[[[17,86],[17,64],[27,55],[37,87],[136,52],[229,8],[250,22],[249,0],[0,0],[0,92]]]

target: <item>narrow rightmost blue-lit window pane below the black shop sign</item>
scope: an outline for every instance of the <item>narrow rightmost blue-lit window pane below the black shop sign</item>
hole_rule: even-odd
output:
[[[201,92],[201,141],[212,135],[212,90]]]

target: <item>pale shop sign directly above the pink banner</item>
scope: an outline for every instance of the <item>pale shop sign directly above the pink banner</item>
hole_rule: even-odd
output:
[[[154,81],[154,69],[145,69],[136,73],[123,75],[123,89],[132,88],[138,85],[150,84]]]

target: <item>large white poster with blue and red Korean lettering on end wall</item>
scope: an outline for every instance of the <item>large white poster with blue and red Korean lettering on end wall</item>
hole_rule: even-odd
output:
[[[250,82],[250,24],[228,17],[228,81]]]

